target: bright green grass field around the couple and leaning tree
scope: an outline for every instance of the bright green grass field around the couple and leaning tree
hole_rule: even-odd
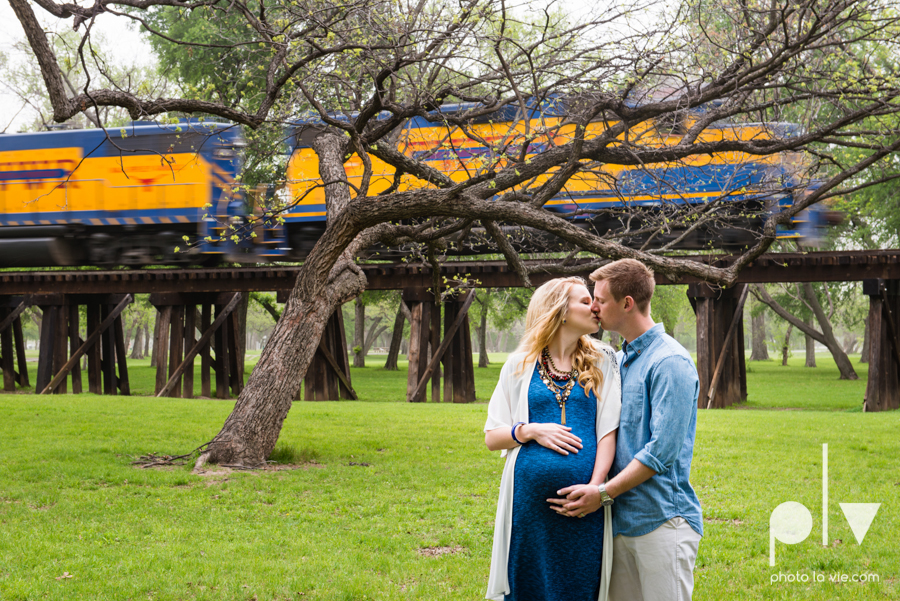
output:
[[[481,599],[502,469],[481,429],[503,358],[476,369],[479,403],[409,405],[403,366],[369,357],[352,374],[361,402],[295,403],[278,456],[296,465],[265,472],[132,466],[209,440],[230,401],[0,395],[0,599]],[[840,382],[827,364],[750,363],[742,407],[758,410],[700,412],[695,599],[900,597],[900,414],[861,413],[864,366]],[[153,373],[136,362],[132,389],[152,392]],[[777,543],[771,568],[785,501],[813,529]],[[862,545],[848,502],[882,503]],[[825,581],[771,582],[787,574]],[[830,581],[842,574],[878,582]]]

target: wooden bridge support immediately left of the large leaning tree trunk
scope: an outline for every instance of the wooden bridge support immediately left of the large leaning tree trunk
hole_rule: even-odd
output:
[[[156,354],[156,395],[193,398],[194,365],[200,356],[200,395],[220,399],[244,388],[244,365],[237,348],[240,292],[154,293],[150,304],[159,311]],[[199,331],[199,336],[198,336]]]

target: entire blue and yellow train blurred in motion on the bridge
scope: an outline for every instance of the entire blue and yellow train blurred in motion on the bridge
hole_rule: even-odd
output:
[[[392,143],[461,181],[477,169],[506,166],[513,155],[522,155],[526,143],[526,157],[569,143],[575,130],[559,105],[530,109],[527,119],[515,107],[501,109],[471,120],[468,132],[434,118],[465,115],[471,108],[450,105],[430,119],[411,119],[394,133]],[[686,113],[680,122],[650,122],[629,135],[643,145],[675,144],[697,117]],[[0,135],[0,267],[302,260],[326,221],[312,123],[297,123],[290,132],[287,182],[262,194],[245,193],[239,185],[245,142],[240,127],[231,124],[151,121],[108,130]],[[608,126],[591,123],[587,136]],[[792,135],[791,128],[797,126],[716,123],[704,130],[701,141]],[[498,146],[506,154],[498,156]],[[369,194],[375,195],[394,184],[395,174],[376,157],[370,160]],[[354,155],[345,168],[358,187],[363,161]],[[640,168],[602,165],[576,174],[546,207],[603,234],[640,230],[642,222],[665,211],[700,212],[715,204],[720,214],[724,208],[725,227],[719,219],[713,227],[644,232],[622,240],[638,247],[670,243],[678,249],[739,249],[752,244],[768,214],[809,193],[801,171],[796,153],[704,155]],[[539,186],[553,173],[529,185]],[[423,185],[403,175],[399,189]],[[281,217],[267,217],[279,205]],[[806,210],[779,236],[811,244],[830,221],[826,211]]]

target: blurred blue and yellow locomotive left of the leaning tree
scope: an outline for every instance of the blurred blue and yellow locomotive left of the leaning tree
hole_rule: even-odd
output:
[[[230,235],[244,146],[240,127],[193,120],[2,135],[0,267],[282,256],[277,228]]]

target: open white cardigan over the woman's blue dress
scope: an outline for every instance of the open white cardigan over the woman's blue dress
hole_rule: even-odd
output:
[[[619,369],[616,365],[615,351],[612,347],[601,343],[603,384],[597,396],[597,441],[619,427],[619,414],[622,410],[622,384]],[[484,431],[497,428],[512,429],[517,422],[528,423],[528,384],[534,374],[536,363],[520,368],[524,353],[509,356],[500,370],[500,380],[488,404],[488,418]],[[497,517],[494,521],[494,546],[491,553],[491,573],[488,578],[486,599],[503,601],[509,594],[509,539],[512,534],[513,475],[516,468],[516,457],[521,447],[501,452],[506,457],[503,475],[500,478],[500,498],[497,500]],[[572,484],[579,484],[573,482]],[[603,562],[601,567],[600,596],[598,601],[606,601],[609,592],[609,578],[612,572],[612,511],[604,507],[603,530]]]

